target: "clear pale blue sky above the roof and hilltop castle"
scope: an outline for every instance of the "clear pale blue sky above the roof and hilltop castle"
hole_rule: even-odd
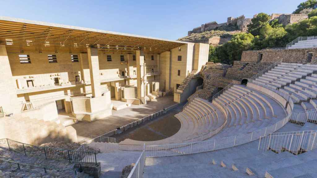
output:
[[[292,13],[304,0],[14,1],[0,16],[176,40],[203,23],[256,13]]]

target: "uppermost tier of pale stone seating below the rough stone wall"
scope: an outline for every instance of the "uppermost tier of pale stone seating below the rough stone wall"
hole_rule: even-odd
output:
[[[316,64],[282,62],[252,83],[268,86],[269,89],[278,89],[290,95],[295,103],[294,111],[309,111],[317,108]],[[308,122],[317,122],[314,113],[307,112],[307,118],[309,118]],[[290,119],[292,121],[295,118]]]

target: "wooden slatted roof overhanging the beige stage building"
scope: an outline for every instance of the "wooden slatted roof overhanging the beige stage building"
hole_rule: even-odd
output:
[[[7,51],[162,53],[188,42],[0,16],[0,44]]]

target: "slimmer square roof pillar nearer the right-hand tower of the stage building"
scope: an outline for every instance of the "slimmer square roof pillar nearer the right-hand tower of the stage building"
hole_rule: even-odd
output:
[[[136,51],[135,59],[137,61],[137,91],[138,99],[142,101],[143,104],[146,104],[146,67],[144,63],[144,52]]]

